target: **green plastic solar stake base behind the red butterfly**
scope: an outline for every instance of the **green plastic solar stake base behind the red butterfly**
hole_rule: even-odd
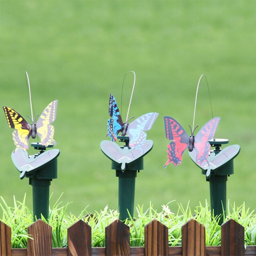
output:
[[[211,212],[214,216],[220,216],[219,224],[221,225],[227,210],[227,181],[228,177],[234,173],[233,159],[239,154],[240,146],[231,145],[220,149],[222,144],[228,144],[227,139],[212,139],[208,142],[215,147],[207,158],[208,163],[199,166],[193,151],[189,152],[189,156],[202,169],[202,174],[206,175],[206,181],[209,181]]]

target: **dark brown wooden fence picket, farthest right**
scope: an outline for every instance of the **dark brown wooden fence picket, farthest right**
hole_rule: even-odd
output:
[[[220,255],[244,255],[244,227],[235,220],[221,225]]]

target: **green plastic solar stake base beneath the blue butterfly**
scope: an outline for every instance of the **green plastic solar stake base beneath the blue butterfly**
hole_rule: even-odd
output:
[[[137,172],[143,170],[143,156],[153,147],[152,140],[146,140],[142,148],[129,147],[129,136],[117,136],[124,146],[119,147],[115,142],[103,140],[100,143],[102,152],[112,161],[111,169],[116,170],[118,177],[118,211],[119,219],[133,216],[135,198],[135,178]]]

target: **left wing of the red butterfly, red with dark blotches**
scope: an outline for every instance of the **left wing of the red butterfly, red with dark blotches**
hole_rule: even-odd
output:
[[[168,140],[172,140],[167,147],[168,160],[164,164],[172,163],[175,167],[181,164],[182,155],[189,146],[189,137],[182,126],[172,117],[164,116],[165,136]]]

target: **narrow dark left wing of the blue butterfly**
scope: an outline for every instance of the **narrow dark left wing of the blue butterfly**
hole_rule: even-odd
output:
[[[108,134],[112,141],[116,141],[117,134],[123,131],[124,123],[113,94],[109,95],[108,113],[112,117],[108,119]]]

